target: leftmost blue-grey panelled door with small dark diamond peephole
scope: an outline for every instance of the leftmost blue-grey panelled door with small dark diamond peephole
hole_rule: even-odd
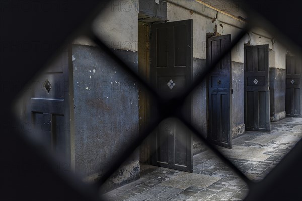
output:
[[[35,137],[67,159],[64,168],[70,165],[69,57],[63,51],[35,80],[28,106]]]

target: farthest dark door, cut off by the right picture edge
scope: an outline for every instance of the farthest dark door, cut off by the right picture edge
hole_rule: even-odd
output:
[[[286,94],[285,112],[286,116],[301,116],[301,62],[293,56],[286,56]]]

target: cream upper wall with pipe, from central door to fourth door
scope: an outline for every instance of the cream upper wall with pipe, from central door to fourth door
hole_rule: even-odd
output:
[[[200,11],[202,11],[201,14],[199,14]],[[231,34],[231,40],[245,25],[243,22],[222,13],[217,13],[217,11],[196,1],[178,0],[173,1],[173,4],[167,3],[167,20],[169,22],[187,19],[193,19],[193,58],[198,59],[206,59],[206,33],[213,33],[215,25],[217,25],[219,34]],[[214,22],[213,19],[215,19]],[[232,61],[243,63],[243,47],[247,41],[248,36],[244,37],[238,46],[232,50]]]

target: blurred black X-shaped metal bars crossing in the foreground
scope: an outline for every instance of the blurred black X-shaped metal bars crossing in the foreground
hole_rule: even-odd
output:
[[[96,43],[101,51],[106,52],[108,56],[113,58],[115,62],[125,70],[132,78],[136,79],[139,85],[143,85],[145,89],[149,91],[150,94],[157,100],[157,105],[161,106],[159,109],[160,115],[158,118],[152,119],[146,128],[142,132],[137,132],[135,135],[135,139],[131,141],[125,151],[120,153],[110,165],[110,168],[105,171],[103,176],[96,182],[98,186],[101,186],[105,183],[105,181],[122,165],[122,163],[134,152],[134,150],[143,142],[143,140],[158,126],[158,124],[165,118],[169,116],[176,116],[179,118],[192,132],[194,132],[204,143],[213,151],[226,165],[228,165],[234,172],[236,172],[240,178],[242,178],[248,185],[251,181],[232,163],[230,162],[217,148],[211,145],[204,135],[200,131],[198,131],[192,124],[189,123],[181,114],[175,114],[175,109],[181,107],[185,101],[185,98],[193,92],[193,90],[201,84],[201,82],[206,78],[207,74],[211,72],[211,70],[220,62],[220,60],[228,54],[232,48],[242,39],[242,37],[247,33],[247,27],[243,28],[239,34],[232,40],[232,42],[226,46],[226,48],[217,56],[214,61],[207,65],[201,76],[193,81],[193,83],[188,87],[184,93],[172,100],[165,100],[158,95],[155,89],[149,85],[145,80],[143,80],[137,72],[134,72],[129,66],[125,64],[125,62],[120,59],[114,52],[107,47],[93,32],[90,32],[87,36],[92,39],[94,43]]]

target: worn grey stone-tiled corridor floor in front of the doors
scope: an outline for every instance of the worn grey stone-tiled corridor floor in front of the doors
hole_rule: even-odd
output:
[[[246,131],[233,148],[217,148],[248,178],[259,181],[302,137],[302,118],[271,123],[271,133]],[[248,187],[209,150],[194,156],[193,173],[142,166],[141,178],[104,195],[105,200],[242,200]]]

